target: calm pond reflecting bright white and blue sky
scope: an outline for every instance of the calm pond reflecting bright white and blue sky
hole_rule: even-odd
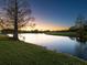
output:
[[[9,36],[12,36],[9,34]],[[67,53],[87,59],[87,42],[79,42],[75,37],[47,35],[44,33],[19,34],[21,41],[41,45],[58,53]]]

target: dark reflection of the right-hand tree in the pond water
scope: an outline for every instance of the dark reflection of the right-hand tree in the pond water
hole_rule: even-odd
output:
[[[80,58],[87,59],[87,40],[79,37],[69,37],[69,39],[77,42],[75,48],[75,55]]]

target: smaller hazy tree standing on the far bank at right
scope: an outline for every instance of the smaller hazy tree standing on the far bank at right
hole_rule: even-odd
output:
[[[84,39],[85,36],[85,18],[83,15],[78,15],[75,28],[77,29],[76,33],[79,39]]]

